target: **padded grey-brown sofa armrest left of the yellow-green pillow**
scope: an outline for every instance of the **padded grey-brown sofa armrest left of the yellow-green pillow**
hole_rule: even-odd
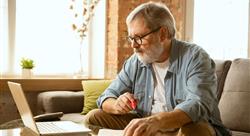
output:
[[[42,92],[37,98],[38,114],[63,112],[80,113],[83,109],[82,91],[49,91]]]

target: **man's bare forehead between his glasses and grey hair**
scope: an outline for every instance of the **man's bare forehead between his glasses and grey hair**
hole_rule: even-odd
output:
[[[148,31],[149,31],[149,29],[148,29],[144,19],[137,18],[128,24],[128,35],[129,36],[135,36],[135,35],[140,36],[142,34],[145,34]]]

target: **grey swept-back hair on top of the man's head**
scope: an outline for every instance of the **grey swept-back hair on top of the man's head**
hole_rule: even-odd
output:
[[[147,2],[136,7],[127,16],[127,26],[135,19],[144,19],[147,27],[151,30],[158,27],[166,27],[169,38],[175,37],[175,20],[168,7],[159,2]]]

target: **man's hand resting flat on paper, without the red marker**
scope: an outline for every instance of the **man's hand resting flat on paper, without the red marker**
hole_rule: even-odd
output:
[[[133,119],[125,128],[124,136],[153,136],[159,131],[156,117]]]

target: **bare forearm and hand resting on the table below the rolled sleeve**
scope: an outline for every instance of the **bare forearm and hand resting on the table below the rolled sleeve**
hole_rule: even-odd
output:
[[[125,128],[124,136],[154,136],[162,130],[180,128],[192,122],[191,118],[182,110],[159,112],[152,116],[133,119]]]

